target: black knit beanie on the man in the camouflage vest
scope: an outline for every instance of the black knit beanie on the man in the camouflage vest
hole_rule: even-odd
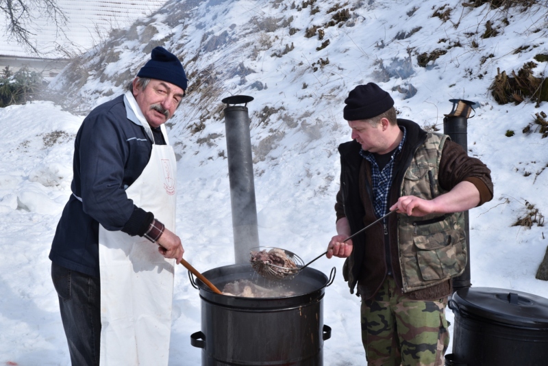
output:
[[[392,108],[394,99],[377,84],[367,83],[351,90],[345,104],[345,120],[369,120]]]

